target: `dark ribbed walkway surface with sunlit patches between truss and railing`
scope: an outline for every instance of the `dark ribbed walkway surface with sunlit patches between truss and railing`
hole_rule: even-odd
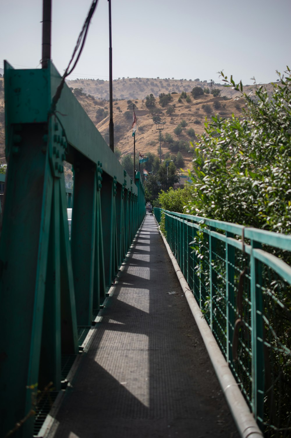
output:
[[[99,315],[56,438],[238,438],[153,215]]]

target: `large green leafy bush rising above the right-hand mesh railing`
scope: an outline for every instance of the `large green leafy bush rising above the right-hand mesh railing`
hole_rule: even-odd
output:
[[[196,198],[189,212],[291,233],[290,70],[280,79],[272,84],[272,99],[263,86],[254,99],[231,77],[229,86],[245,99],[245,118],[208,123],[193,157]]]

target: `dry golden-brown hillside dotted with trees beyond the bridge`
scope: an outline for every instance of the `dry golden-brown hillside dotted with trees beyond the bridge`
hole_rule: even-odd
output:
[[[0,78],[0,157],[4,157],[4,79]],[[88,113],[91,120],[94,122],[98,130],[101,132],[107,143],[109,143],[109,82],[102,80],[86,80],[79,79],[75,81],[67,81],[70,88],[83,88],[82,92],[86,95],[78,95],[77,99]],[[204,94],[198,98],[193,98],[190,94],[195,86],[201,88],[209,87],[209,82],[206,81],[186,81],[186,79],[148,79],[148,78],[122,78],[113,81],[113,98],[119,99],[113,102],[113,121],[114,121],[114,143],[115,148],[119,148],[121,153],[133,154],[133,138],[131,136],[132,124],[132,107],[135,105],[135,113],[137,116],[137,132],[136,132],[136,149],[142,153],[152,152],[158,154],[159,140],[158,131],[154,124],[149,109],[145,105],[145,96],[153,94],[156,98],[156,111],[160,112],[161,120],[165,122],[163,134],[171,134],[174,141],[180,141],[181,153],[185,160],[185,168],[191,165],[192,153],[189,153],[190,141],[195,141],[196,136],[201,134],[204,129],[205,117],[210,117],[214,113],[219,113],[221,117],[231,117],[242,114],[242,99],[235,100],[237,92],[231,88],[224,87],[220,84],[214,84],[215,88],[221,91],[221,97],[214,98],[213,95]],[[271,84],[266,85],[271,89]],[[245,90],[253,88],[246,86]],[[178,102],[180,93],[185,91],[190,96],[190,102],[182,99]],[[159,105],[158,95],[160,93],[171,94],[172,101],[166,106]],[[223,96],[228,96],[231,100],[223,100]],[[122,100],[121,100],[122,99]],[[131,102],[128,102],[128,101]],[[167,114],[167,109],[174,106],[175,112],[171,115]],[[214,109],[214,106],[219,107]],[[103,110],[103,111],[102,111]],[[99,116],[96,112],[100,114]],[[174,133],[174,129],[182,120],[186,121],[186,127],[182,129],[181,134]],[[195,136],[193,137],[193,131]],[[182,142],[181,142],[182,141]],[[162,154],[169,152],[170,144],[162,142]],[[177,153],[176,151],[170,151]]]

